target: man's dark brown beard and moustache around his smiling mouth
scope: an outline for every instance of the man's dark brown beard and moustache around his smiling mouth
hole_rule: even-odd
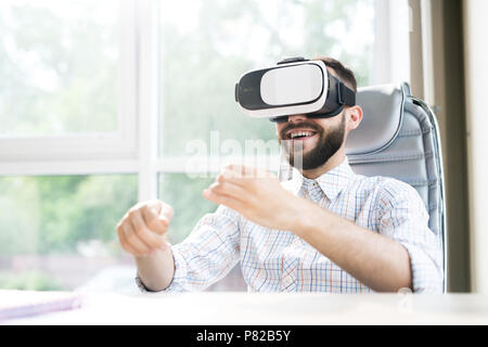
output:
[[[283,147],[290,165],[298,170],[312,170],[325,164],[341,149],[344,142],[346,117],[344,114],[341,117],[341,124],[337,127],[330,129],[328,132],[325,132],[322,127],[311,121],[300,121],[284,127],[280,132],[280,144],[283,144],[284,142]],[[317,131],[317,134],[319,136],[317,145],[307,153],[303,153],[304,149],[301,142],[296,141],[293,145],[294,149],[291,149],[294,141],[283,141],[283,139],[285,139],[286,132],[295,128],[309,128]]]

